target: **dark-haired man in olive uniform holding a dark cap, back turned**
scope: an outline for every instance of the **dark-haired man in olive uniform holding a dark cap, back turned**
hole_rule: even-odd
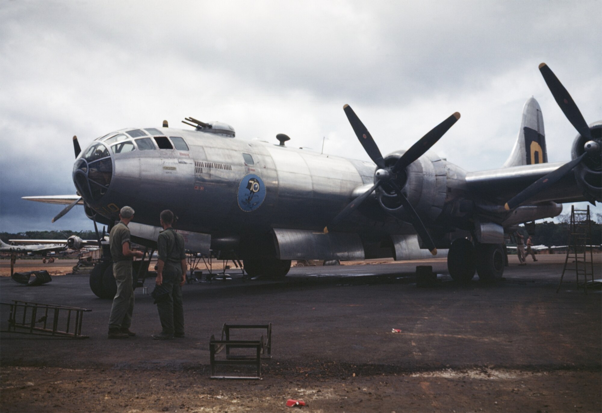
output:
[[[186,253],[184,237],[173,228],[173,213],[161,213],[163,231],[157,240],[158,263],[157,285],[166,287],[167,294],[158,300],[157,309],[161,320],[161,333],[154,334],[155,340],[184,337],[184,306],[182,305],[182,285],[186,282]]]

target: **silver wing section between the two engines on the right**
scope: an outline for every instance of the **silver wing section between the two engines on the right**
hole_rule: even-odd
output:
[[[542,163],[534,165],[514,166],[501,169],[467,172],[466,184],[470,191],[499,205],[520,193],[542,176],[563,166],[565,162]],[[529,199],[529,203],[545,201],[581,202],[587,199],[576,183],[573,173],[568,173],[547,190]]]

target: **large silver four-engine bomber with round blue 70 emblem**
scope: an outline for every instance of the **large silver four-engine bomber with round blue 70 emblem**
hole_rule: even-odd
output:
[[[95,226],[114,225],[120,208],[132,206],[132,240],[149,247],[156,245],[160,212],[169,208],[188,249],[242,259],[251,276],[285,276],[291,260],[415,259],[448,249],[453,279],[467,282],[477,272],[493,281],[504,270],[504,233],[559,215],[563,202],[602,200],[602,122],[588,125],[550,68],[542,63],[539,70],[578,132],[568,163],[548,163],[544,121],[533,98],[524,105],[506,163],[479,172],[429,151],[459,113],[407,151],[383,157],[345,105],[372,162],[287,146],[284,134],[277,135],[279,144],[235,138],[225,123],[189,117],[182,122],[193,131],[167,122],[122,129],[84,151],[73,137],[78,194],[25,199],[69,204],[55,219],[84,203]],[[114,283],[111,271],[107,263],[93,271],[96,295],[110,295],[99,277]]]

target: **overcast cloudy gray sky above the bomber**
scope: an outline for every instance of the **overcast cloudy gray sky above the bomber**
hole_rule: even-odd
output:
[[[81,206],[52,224],[62,206],[20,197],[75,193],[73,135],[186,116],[368,160],[344,104],[383,154],[459,111],[433,151],[475,171],[503,165],[535,96],[548,161],[567,161],[577,132],[538,65],[600,120],[600,16],[601,1],[0,0],[0,231],[92,229]]]

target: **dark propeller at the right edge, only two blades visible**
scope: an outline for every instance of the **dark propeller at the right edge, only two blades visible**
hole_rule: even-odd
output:
[[[566,119],[571,122],[571,125],[577,129],[580,135],[585,137],[588,141],[585,144],[585,152],[574,160],[564,164],[558,169],[548,173],[548,175],[542,176],[537,181],[533,182],[533,184],[529,185],[523,191],[512,197],[504,208],[506,211],[510,211],[516,208],[521,203],[529,200],[539,192],[549,188],[554,182],[557,182],[563,176],[571,172],[574,167],[583,161],[589,154],[595,155],[598,154],[600,156],[600,144],[592,138],[592,134],[589,131],[588,123],[583,119],[583,115],[579,111],[577,104],[571,98],[571,95],[567,92],[566,88],[560,83],[554,72],[548,67],[547,64],[542,63],[539,65],[539,72],[544,76],[545,83],[548,85],[550,92],[556,99],[556,103],[559,105],[560,110],[565,114]]]

